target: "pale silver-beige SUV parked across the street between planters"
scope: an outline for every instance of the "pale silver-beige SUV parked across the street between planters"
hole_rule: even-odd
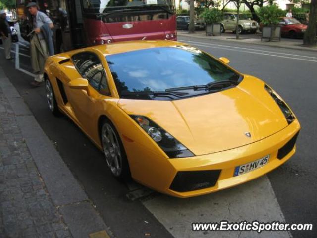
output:
[[[221,22],[221,32],[226,30],[236,31],[238,14],[236,13],[224,13],[223,21]],[[246,18],[244,15],[239,14],[239,26],[238,33],[251,32],[256,33],[259,28],[259,24],[256,21]]]

